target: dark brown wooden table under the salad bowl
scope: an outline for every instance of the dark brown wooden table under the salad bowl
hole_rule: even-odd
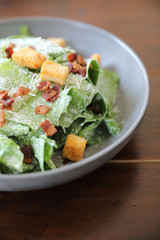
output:
[[[117,35],[143,60],[151,95],[133,139],[95,172],[42,191],[0,192],[0,240],[159,240],[159,0],[0,0],[0,18],[27,15],[76,19]]]

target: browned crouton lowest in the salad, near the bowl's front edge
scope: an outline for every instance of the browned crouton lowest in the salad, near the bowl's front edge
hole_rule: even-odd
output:
[[[69,134],[63,148],[63,157],[71,161],[80,161],[83,157],[86,143],[87,140],[85,138]]]

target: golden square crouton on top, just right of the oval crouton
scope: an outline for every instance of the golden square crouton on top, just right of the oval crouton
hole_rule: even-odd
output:
[[[47,60],[42,64],[40,78],[62,86],[68,74],[69,67]]]

